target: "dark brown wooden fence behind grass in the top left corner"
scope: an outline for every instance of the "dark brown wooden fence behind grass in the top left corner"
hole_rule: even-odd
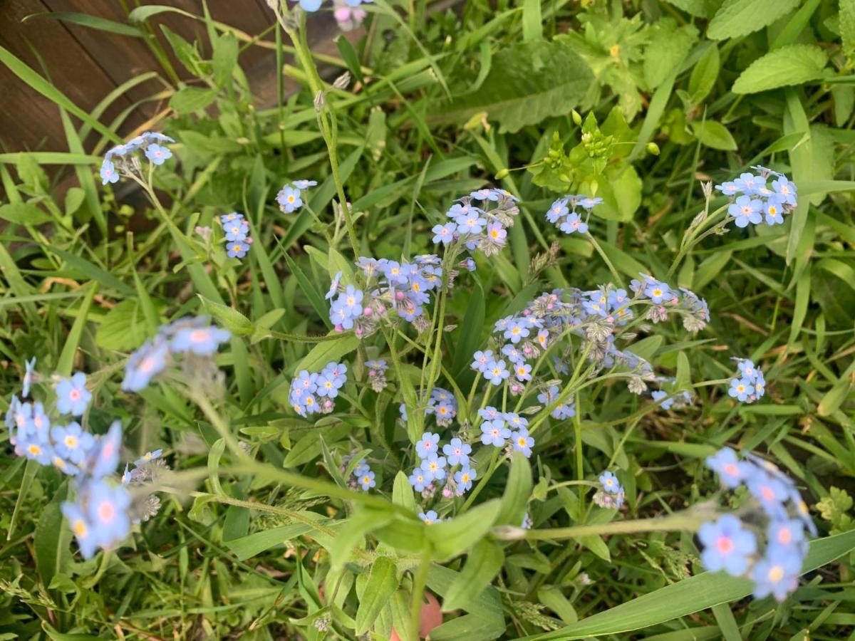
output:
[[[139,5],[166,4],[202,15],[201,0],[3,0],[0,3],[0,45],[46,75],[80,109],[91,112],[103,97],[117,86],[145,72],[163,74],[162,65],[152,53],[146,38],[117,35],[51,18],[30,17],[34,14],[71,11],[97,15],[107,20],[127,23],[127,13]],[[208,0],[215,21],[238,28],[250,35],[268,29],[275,21],[265,0]],[[150,19],[153,32],[162,44],[177,74],[189,76],[172,55],[161,25],[182,38],[198,39],[203,57],[209,56],[208,39],[202,21],[177,13],[162,13]],[[313,41],[326,42],[335,32],[335,21],[328,13],[313,16],[310,30]],[[274,39],[272,32],[265,37]],[[334,47],[333,47],[334,49]],[[240,55],[240,64],[251,81],[253,91],[275,100],[274,51],[252,46]],[[164,78],[166,79],[166,78]],[[167,79],[168,80],[168,79]],[[155,114],[162,104],[144,102],[164,88],[158,79],[148,79],[115,100],[101,120],[109,124],[123,111],[136,104],[120,127],[128,132]],[[21,81],[0,64],[0,150],[25,151],[67,150],[59,110],[48,98]]]

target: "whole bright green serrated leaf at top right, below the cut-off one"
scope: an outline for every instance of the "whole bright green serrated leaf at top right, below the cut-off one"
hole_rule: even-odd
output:
[[[788,44],[752,62],[734,82],[734,93],[757,93],[823,77],[828,58],[816,44]]]

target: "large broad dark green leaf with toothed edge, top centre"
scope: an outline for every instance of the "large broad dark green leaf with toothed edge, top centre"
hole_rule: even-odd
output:
[[[493,56],[481,91],[457,97],[430,120],[460,123],[486,111],[501,132],[516,132],[551,115],[567,115],[592,82],[590,68],[569,44],[516,44]]]

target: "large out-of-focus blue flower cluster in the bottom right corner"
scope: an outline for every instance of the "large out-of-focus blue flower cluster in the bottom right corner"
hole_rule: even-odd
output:
[[[744,485],[750,498],[743,518],[722,515],[700,527],[701,562],[711,572],[750,577],[754,597],[782,601],[799,584],[807,533],[817,534],[793,480],[758,456],[740,461],[728,447],[708,457],[706,466],[728,488]]]

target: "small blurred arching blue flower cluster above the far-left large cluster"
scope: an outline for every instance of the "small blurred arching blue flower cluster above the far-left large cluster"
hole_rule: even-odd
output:
[[[175,355],[213,356],[217,347],[231,336],[228,330],[209,325],[207,316],[186,316],[162,325],[155,338],[145,341],[127,359],[121,389],[144,390],[152,378],[167,368]]]

